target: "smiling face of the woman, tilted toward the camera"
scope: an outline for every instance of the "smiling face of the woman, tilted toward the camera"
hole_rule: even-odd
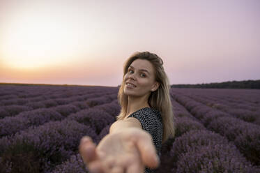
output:
[[[123,77],[124,93],[128,96],[150,95],[159,87],[155,82],[155,71],[150,61],[146,59],[136,59],[133,61],[128,72]]]

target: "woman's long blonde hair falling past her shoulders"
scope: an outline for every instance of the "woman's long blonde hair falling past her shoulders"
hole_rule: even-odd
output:
[[[128,68],[133,61],[136,59],[146,59],[153,64],[155,70],[155,81],[160,83],[160,86],[156,91],[151,92],[148,98],[148,104],[150,107],[159,110],[162,115],[163,123],[163,136],[162,143],[166,142],[169,137],[174,137],[175,135],[175,125],[174,125],[174,113],[172,111],[171,98],[169,95],[169,79],[163,68],[163,61],[157,54],[150,52],[135,52],[130,56],[124,63],[123,66],[123,77],[128,73]],[[128,96],[123,92],[124,81],[121,83],[121,87],[118,91],[118,103],[121,105],[121,112],[116,116],[117,120],[124,119],[126,116],[126,111],[128,107]]]

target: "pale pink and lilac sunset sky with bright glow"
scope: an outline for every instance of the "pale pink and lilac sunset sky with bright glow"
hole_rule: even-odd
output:
[[[0,82],[116,87],[134,52],[170,84],[260,80],[260,1],[0,0]]]

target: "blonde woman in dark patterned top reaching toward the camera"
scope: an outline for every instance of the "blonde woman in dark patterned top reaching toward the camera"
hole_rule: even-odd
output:
[[[169,80],[162,64],[150,52],[136,52],[125,61],[117,121],[98,146],[90,137],[82,137],[79,144],[91,172],[153,172],[159,166],[162,143],[174,137]]]

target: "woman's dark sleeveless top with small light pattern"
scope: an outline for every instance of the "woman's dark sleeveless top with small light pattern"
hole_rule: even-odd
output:
[[[130,114],[129,117],[138,119],[142,125],[143,130],[150,133],[153,137],[153,144],[155,145],[157,154],[160,158],[162,149],[162,116],[160,111],[151,107],[144,107]],[[152,173],[151,168],[145,167],[145,173]]]

